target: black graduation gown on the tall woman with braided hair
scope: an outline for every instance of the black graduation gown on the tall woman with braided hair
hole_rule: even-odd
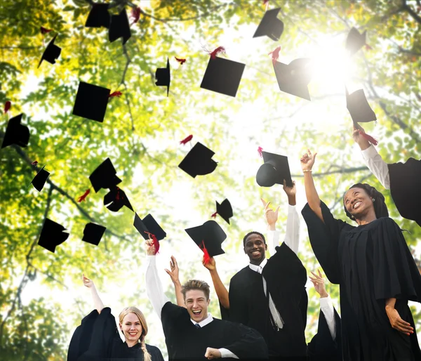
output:
[[[302,209],[310,243],[328,280],[340,284],[342,354],[345,361],[421,360],[408,300],[420,301],[421,276],[399,226],[379,218],[354,227],[336,220],[321,202],[323,221]],[[410,336],[393,329],[385,300],[414,327]]]

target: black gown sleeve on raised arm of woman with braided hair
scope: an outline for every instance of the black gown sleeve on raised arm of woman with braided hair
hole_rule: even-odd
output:
[[[323,202],[320,202],[320,206],[324,222],[316,216],[308,203],[302,209],[301,214],[305,223],[307,223],[310,243],[317,261],[319,261],[330,283],[339,284],[338,243],[340,232],[344,228],[352,229],[353,227],[344,221],[333,218],[328,206]]]

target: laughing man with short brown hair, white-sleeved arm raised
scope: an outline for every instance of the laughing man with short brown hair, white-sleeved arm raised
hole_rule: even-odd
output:
[[[161,318],[170,361],[221,357],[229,360],[267,360],[265,340],[257,331],[242,324],[218,320],[208,313],[210,291],[206,282],[189,280],[182,287],[178,282],[178,287],[181,287],[178,294],[182,294],[185,308],[171,303],[162,290],[151,242],[147,242],[147,254],[147,295]],[[178,268],[175,278],[178,280]]]

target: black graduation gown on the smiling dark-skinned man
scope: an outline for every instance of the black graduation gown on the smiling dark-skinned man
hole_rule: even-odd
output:
[[[271,357],[305,359],[305,325],[307,321],[307,274],[300,258],[285,244],[263,268],[272,300],[283,320],[283,328],[274,330],[270,320],[269,300],[263,290],[260,273],[247,265],[229,283],[229,310],[221,307],[222,317],[257,329],[265,339]]]

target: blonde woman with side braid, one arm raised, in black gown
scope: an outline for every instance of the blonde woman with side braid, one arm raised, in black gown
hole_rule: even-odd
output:
[[[95,310],[84,317],[70,341],[67,361],[136,360],[163,361],[159,348],[145,343],[147,323],[138,308],[126,307],[119,315],[121,341],[114,316],[104,307],[92,280],[82,275],[83,284],[91,290]]]

